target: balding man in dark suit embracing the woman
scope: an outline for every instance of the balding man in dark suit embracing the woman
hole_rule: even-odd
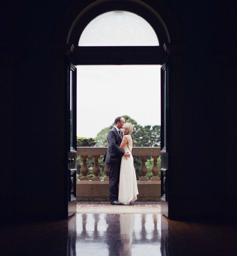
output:
[[[122,205],[118,201],[119,197],[119,174],[121,157],[130,157],[130,154],[119,148],[122,141],[120,129],[123,127],[125,120],[122,116],[114,120],[114,127],[108,133],[108,149],[104,156],[104,162],[107,163],[109,169],[109,187],[110,187],[110,204]]]

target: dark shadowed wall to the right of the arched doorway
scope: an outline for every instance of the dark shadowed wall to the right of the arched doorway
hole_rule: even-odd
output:
[[[173,71],[179,70],[179,75],[171,75],[171,215],[228,218],[235,214],[237,196],[232,155],[235,120],[228,118],[229,107],[233,111],[236,104],[231,96],[237,71],[236,5],[234,1],[172,3],[185,50],[182,58],[172,57]],[[220,204],[225,207],[220,209]]]

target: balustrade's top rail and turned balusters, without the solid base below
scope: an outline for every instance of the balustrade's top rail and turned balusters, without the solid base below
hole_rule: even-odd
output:
[[[89,172],[89,168],[87,166],[87,158],[89,156],[92,156],[94,158],[94,166],[92,168],[92,173],[94,177],[92,177],[92,181],[100,181],[100,177],[98,177],[99,173],[101,172],[101,169],[98,166],[98,159],[101,156],[104,156],[104,154],[107,151],[107,147],[78,147],[77,148],[77,155],[80,156],[83,160],[83,164],[81,166],[81,174],[82,177],[80,177],[80,181],[88,181],[89,177],[87,177],[87,174]],[[142,165],[140,166],[139,171],[141,174],[141,177],[139,178],[140,181],[147,181],[148,178],[147,175],[147,166],[146,166],[146,160],[148,156],[151,156],[153,158],[153,167],[151,169],[151,172],[153,174],[153,177],[151,177],[151,181],[159,181],[160,178],[159,175],[159,167],[157,165],[157,160],[160,156],[160,147],[133,147],[133,158],[136,156],[139,156],[142,160]],[[134,167],[135,168],[135,167]],[[104,173],[105,177],[104,180],[109,180],[109,171],[107,164],[104,167]]]

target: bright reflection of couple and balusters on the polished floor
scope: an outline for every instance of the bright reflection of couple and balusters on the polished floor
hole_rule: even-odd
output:
[[[159,256],[160,218],[160,214],[77,214],[76,255]]]

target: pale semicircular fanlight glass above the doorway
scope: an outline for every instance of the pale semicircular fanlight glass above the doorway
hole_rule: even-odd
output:
[[[93,19],[81,34],[78,46],[158,46],[150,24],[132,12],[106,12]]]

